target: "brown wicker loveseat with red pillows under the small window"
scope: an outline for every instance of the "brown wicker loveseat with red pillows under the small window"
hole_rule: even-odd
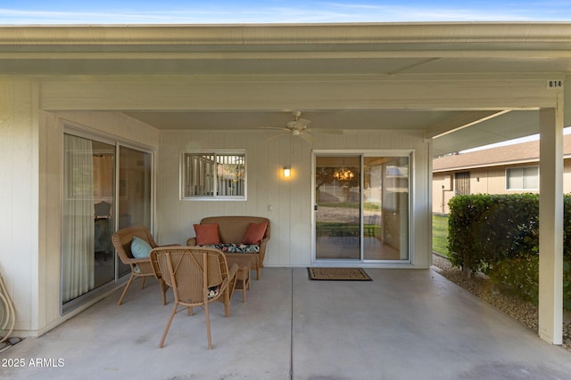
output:
[[[260,224],[266,222],[267,227],[260,244],[242,244],[244,234],[250,224]],[[216,247],[222,250],[231,261],[233,257],[250,257],[250,269],[256,271],[256,279],[261,278],[261,268],[266,255],[266,245],[269,240],[269,219],[261,216],[210,216],[200,221],[201,225],[218,224],[219,245],[204,245],[203,247]],[[196,230],[196,229],[194,229]],[[197,246],[196,238],[186,240],[187,246]],[[238,251],[238,252],[236,252]]]

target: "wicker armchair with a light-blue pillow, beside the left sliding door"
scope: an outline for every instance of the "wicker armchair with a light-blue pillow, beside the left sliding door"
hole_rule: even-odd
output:
[[[159,271],[158,267],[156,267],[156,263],[153,263],[150,257],[137,259],[133,257],[133,254],[131,253],[131,242],[136,236],[139,239],[145,240],[151,247],[158,247],[157,243],[153,239],[153,235],[151,235],[151,231],[145,226],[128,227],[113,233],[112,242],[117,255],[119,256],[121,262],[127,264],[131,268],[131,275],[128,278],[127,285],[125,285],[123,293],[121,294],[117,304],[120,305],[123,302],[123,298],[127,294],[128,287],[135,279],[142,279],[142,289],[145,287],[145,279],[147,277],[153,277],[158,279],[159,284],[161,285],[162,304],[164,305],[167,303],[167,286],[161,278],[161,271]]]

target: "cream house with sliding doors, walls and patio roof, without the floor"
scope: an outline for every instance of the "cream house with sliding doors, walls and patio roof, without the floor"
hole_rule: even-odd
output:
[[[539,130],[545,178],[562,175],[571,24],[0,30],[0,272],[20,336],[124,283],[104,244],[123,226],[184,244],[203,217],[264,216],[267,267],[426,270],[434,156]],[[558,183],[540,200],[556,344]]]

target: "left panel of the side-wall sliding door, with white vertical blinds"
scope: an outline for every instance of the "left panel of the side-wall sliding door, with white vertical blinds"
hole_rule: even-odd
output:
[[[115,279],[115,146],[64,135],[62,303]]]

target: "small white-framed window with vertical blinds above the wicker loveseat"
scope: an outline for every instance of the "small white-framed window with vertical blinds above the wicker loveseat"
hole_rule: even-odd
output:
[[[183,199],[245,199],[244,151],[183,151]]]

